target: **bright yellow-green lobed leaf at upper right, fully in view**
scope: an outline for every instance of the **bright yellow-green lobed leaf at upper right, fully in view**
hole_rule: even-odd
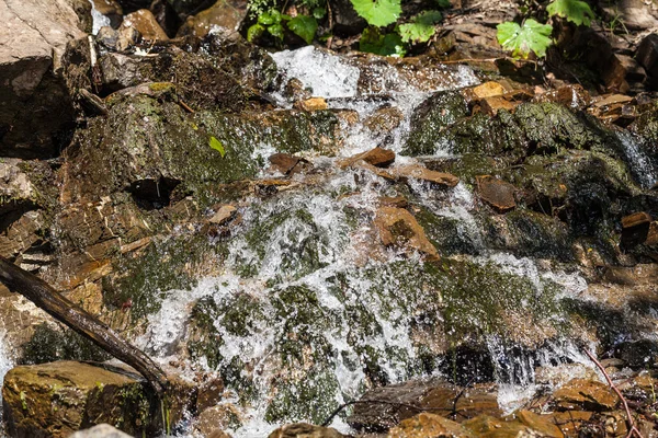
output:
[[[500,23],[497,28],[498,43],[503,49],[512,51],[514,57],[527,58],[531,51],[543,57],[553,43],[551,39],[553,26],[532,19],[525,20],[522,26],[514,22],[507,22]]]

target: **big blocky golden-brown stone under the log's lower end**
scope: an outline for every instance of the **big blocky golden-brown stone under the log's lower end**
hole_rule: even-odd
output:
[[[12,437],[65,438],[94,424],[129,435],[157,431],[159,403],[136,373],[76,361],[20,366],[4,377],[3,419]]]

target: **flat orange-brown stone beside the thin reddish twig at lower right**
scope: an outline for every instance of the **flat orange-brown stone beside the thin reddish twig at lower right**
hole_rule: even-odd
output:
[[[599,412],[614,408],[619,399],[605,383],[572,379],[553,393],[553,401],[561,410]]]

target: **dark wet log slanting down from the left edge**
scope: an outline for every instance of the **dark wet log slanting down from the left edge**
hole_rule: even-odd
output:
[[[0,257],[0,283],[11,291],[22,295],[37,308],[80,335],[91,339],[110,355],[135,368],[159,396],[168,388],[167,376],[160,367],[139,348],[122,339],[110,326],[59,295],[47,283]]]

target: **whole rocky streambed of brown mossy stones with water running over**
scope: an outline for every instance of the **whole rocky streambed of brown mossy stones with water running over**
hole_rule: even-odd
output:
[[[657,434],[645,58],[592,88],[490,47],[268,53],[224,2],[178,38],[5,3],[33,41],[0,53],[0,255],[174,382],[163,406],[2,289],[9,436],[626,436],[624,401]],[[491,39],[452,26],[456,60]]]

